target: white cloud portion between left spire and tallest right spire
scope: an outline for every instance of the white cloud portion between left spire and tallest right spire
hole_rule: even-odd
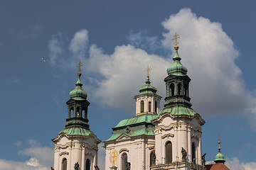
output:
[[[88,73],[96,72],[101,76],[97,79],[99,83],[93,90],[92,97],[97,98],[100,101],[98,103],[131,111],[135,107],[134,95],[139,94],[139,88],[146,81],[144,69],[148,65],[153,69],[152,86],[162,89],[161,94],[164,94],[163,80],[166,75],[163,73],[170,62],[132,45],[118,46],[112,55],[104,55],[102,50],[92,45],[90,59],[86,64]]]

